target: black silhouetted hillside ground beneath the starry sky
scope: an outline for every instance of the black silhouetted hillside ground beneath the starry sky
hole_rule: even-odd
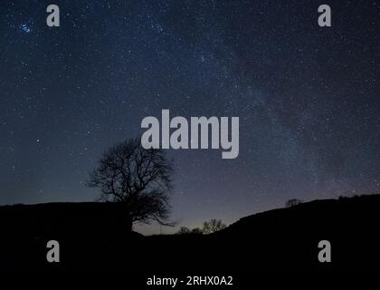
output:
[[[117,203],[0,207],[0,271],[137,273],[362,271],[380,268],[380,195],[315,200],[239,221],[211,235],[128,232]],[[46,261],[57,240],[61,263]],[[318,262],[318,242],[331,263]]]

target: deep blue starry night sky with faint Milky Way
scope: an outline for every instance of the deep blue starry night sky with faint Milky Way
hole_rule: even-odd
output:
[[[180,226],[379,192],[380,3],[328,2],[1,1],[0,204],[94,200],[100,154],[163,109],[240,118],[235,160],[167,151]]]

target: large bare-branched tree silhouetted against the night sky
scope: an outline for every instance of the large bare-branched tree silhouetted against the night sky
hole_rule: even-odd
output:
[[[100,189],[101,201],[125,205],[130,230],[135,222],[152,220],[172,226],[166,221],[173,173],[173,161],[163,150],[145,150],[139,139],[131,139],[103,153],[88,186]]]

